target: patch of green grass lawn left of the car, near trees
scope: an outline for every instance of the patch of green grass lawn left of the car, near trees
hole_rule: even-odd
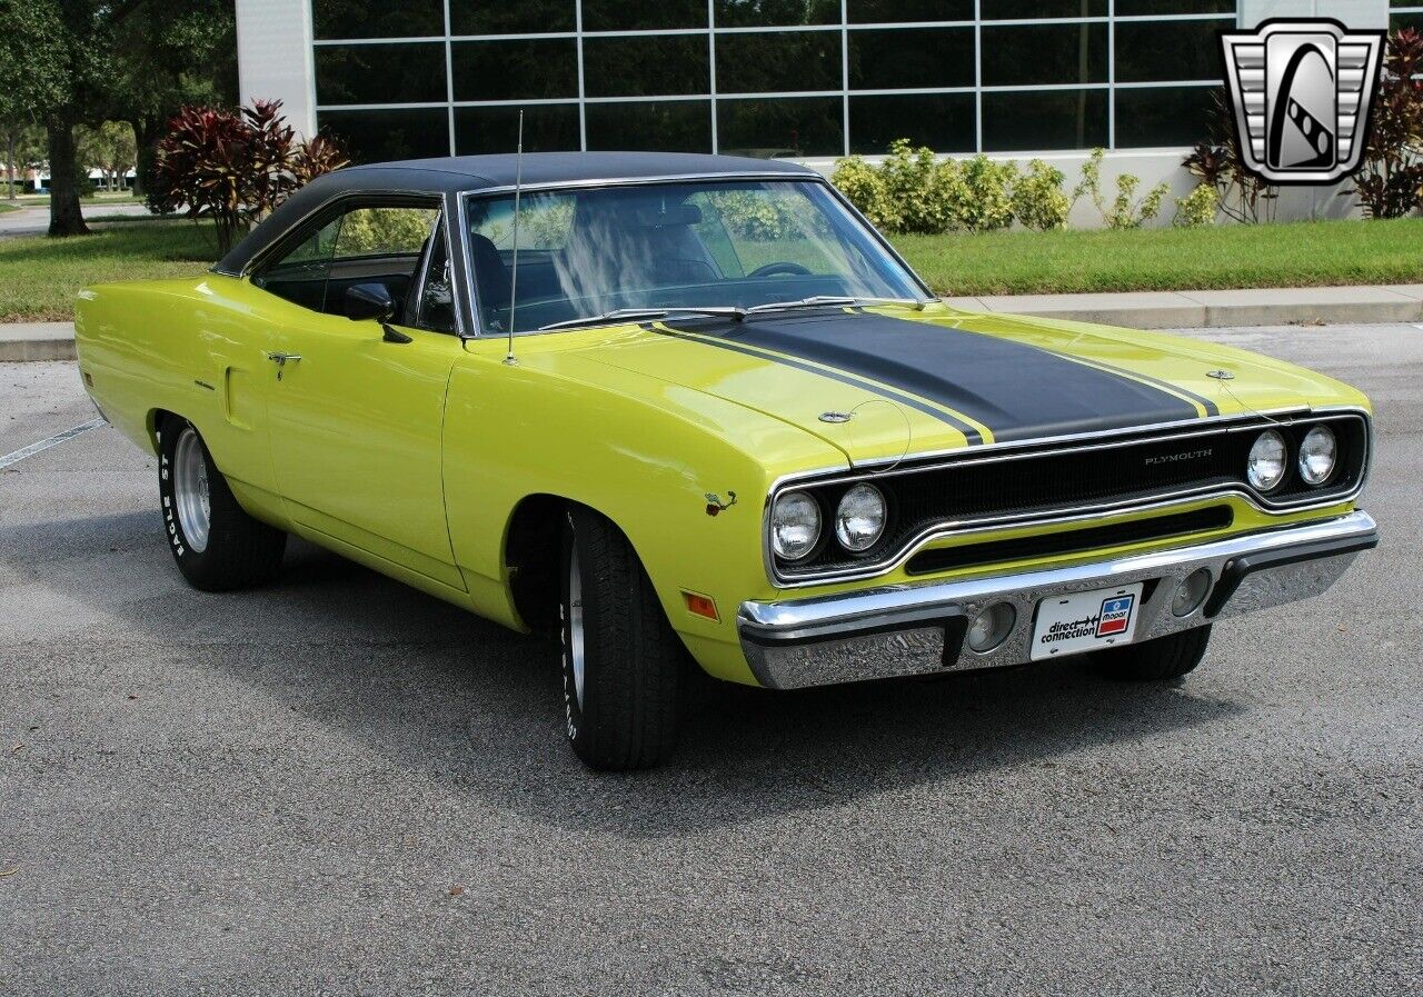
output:
[[[0,239],[0,321],[64,321],[85,284],[198,274],[216,255],[209,229],[176,220]]]

